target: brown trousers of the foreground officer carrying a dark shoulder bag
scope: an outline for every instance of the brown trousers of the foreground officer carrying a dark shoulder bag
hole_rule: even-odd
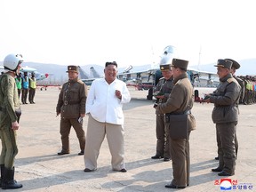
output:
[[[188,139],[172,140],[172,185],[178,187],[187,187],[189,185],[190,175],[190,156],[189,156],[189,134]]]

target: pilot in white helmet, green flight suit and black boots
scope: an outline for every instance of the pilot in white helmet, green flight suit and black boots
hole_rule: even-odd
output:
[[[4,58],[5,73],[0,78],[0,138],[2,152],[0,156],[1,180],[3,189],[22,188],[14,180],[14,159],[18,154],[16,143],[17,130],[20,127],[20,100],[14,77],[20,72],[23,59],[20,54],[9,54]]]

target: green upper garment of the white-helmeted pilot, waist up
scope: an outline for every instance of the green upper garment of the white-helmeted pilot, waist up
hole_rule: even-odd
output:
[[[0,77],[0,108],[0,129],[10,129],[18,120],[15,110],[20,108],[20,100],[15,79],[9,74]]]

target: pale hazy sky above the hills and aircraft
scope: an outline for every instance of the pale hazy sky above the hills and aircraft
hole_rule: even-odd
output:
[[[0,0],[0,60],[156,65],[167,45],[189,65],[256,58],[253,0]]]

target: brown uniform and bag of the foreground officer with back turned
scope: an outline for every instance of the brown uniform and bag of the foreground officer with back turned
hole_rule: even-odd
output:
[[[159,104],[156,110],[161,113],[183,114],[193,107],[194,92],[188,75],[182,74],[173,81],[173,89],[165,103]],[[195,117],[188,115],[188,139],[172,139],[171,156],[173,180],[172,185],[177,187],[187,187],[189,185],[190,156],[189,156],[189,134],[196,127]]]

